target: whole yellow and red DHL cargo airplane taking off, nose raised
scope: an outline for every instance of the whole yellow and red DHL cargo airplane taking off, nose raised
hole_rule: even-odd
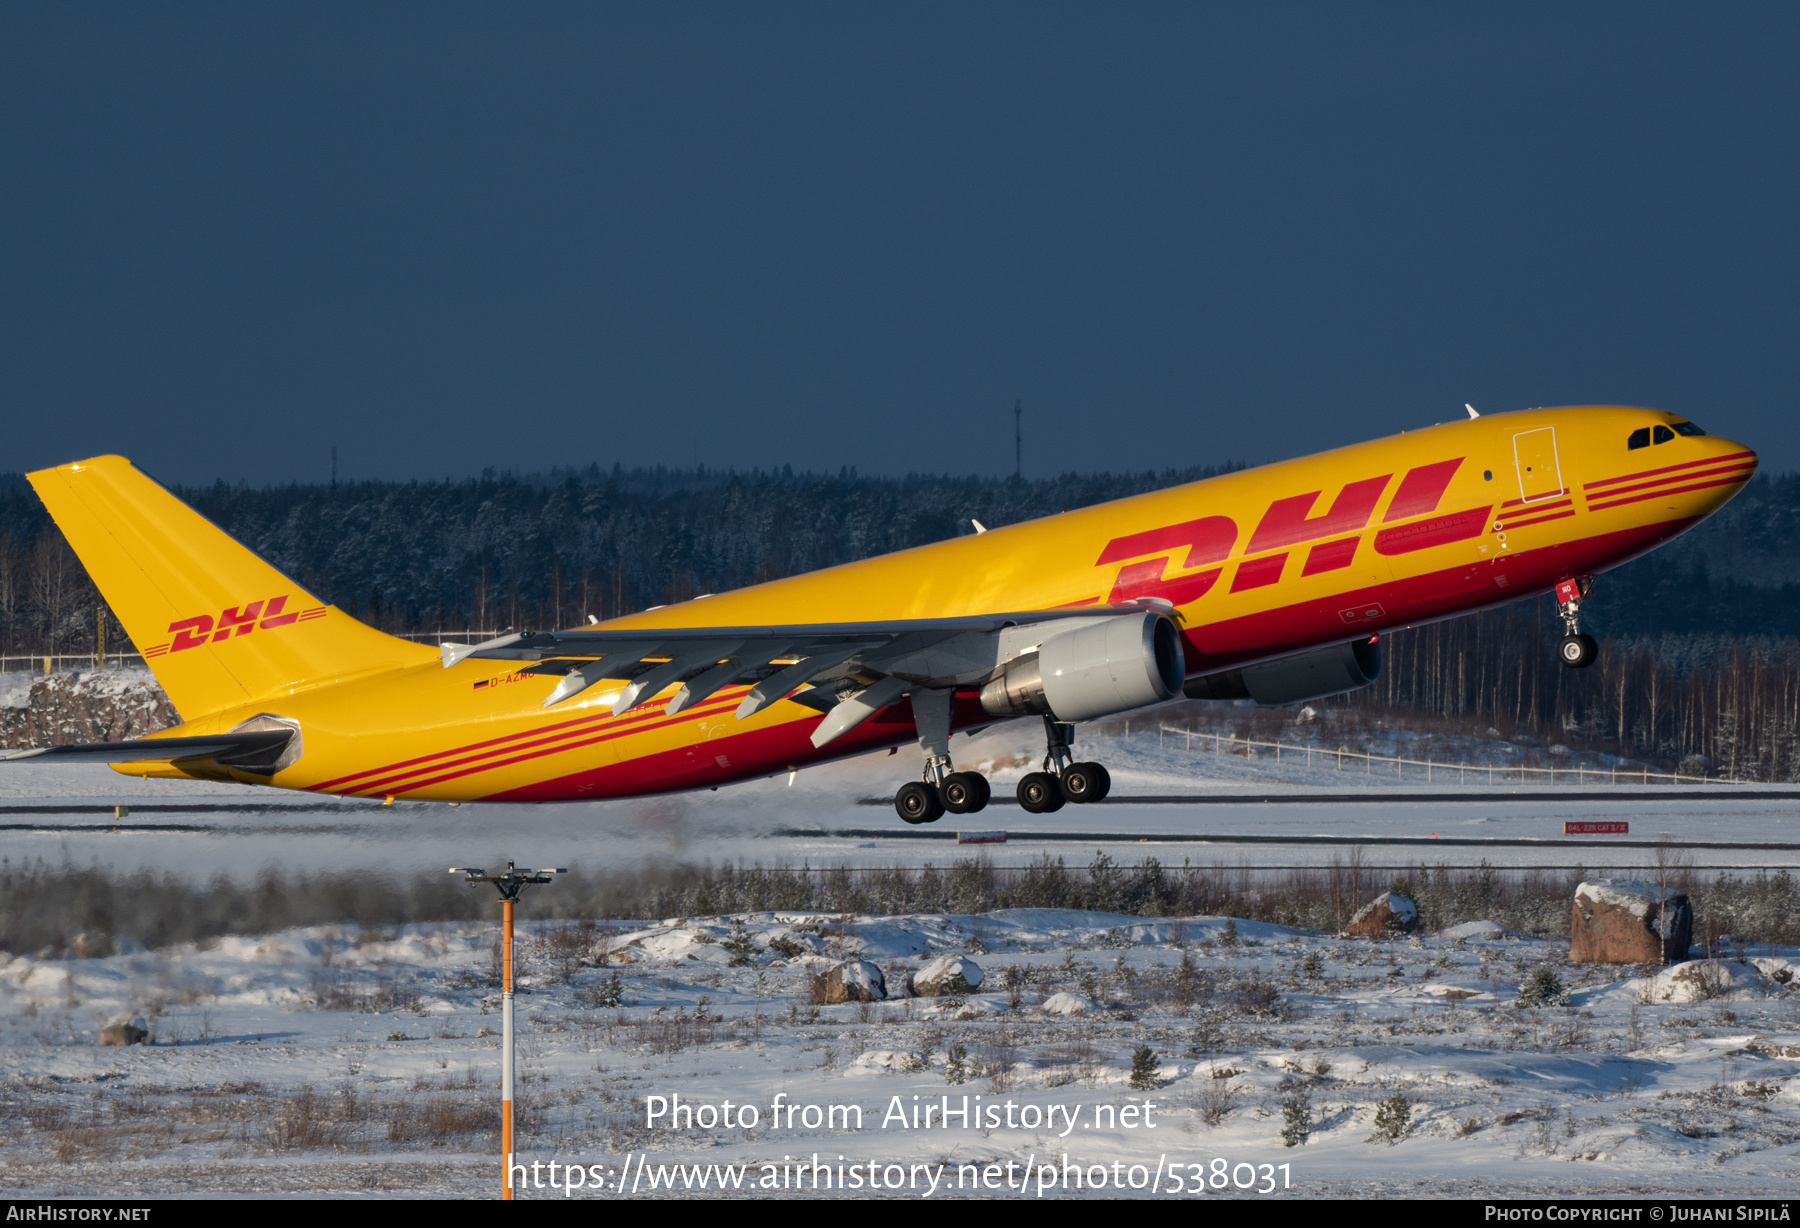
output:
[[[1042,717],[1026,810],[1098,801],[1073,722],[1186,693],[1292,704],[1370,684],[1379,636],[1555,591],[1593,661],[1591,576],[1692,528],[1757,456],[1629,407],[1476,416],[1148,495],[479,645],[326,605],[101,456],[31,474],[185,718],[20,751],[133,776],[369,798],[572,801],[718,787],[918,742],[900,817],[988,801],[952,731]]]

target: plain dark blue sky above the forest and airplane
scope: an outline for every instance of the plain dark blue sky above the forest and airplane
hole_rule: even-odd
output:
[[[1795,5],[0,9],[0,470],[1800,465]]]

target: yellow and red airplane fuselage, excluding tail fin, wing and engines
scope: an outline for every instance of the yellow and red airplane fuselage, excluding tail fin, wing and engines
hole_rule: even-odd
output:
[[[1676,434],[1676,414],[1627,407],[1490,414],[1226,474],[1132,499],[868,558],[605,623],[608,628],[949,618],[1154,598],[1174,607],[1190,677],[1379,636],[1543,592],[1616,567],[1719,508],[1755,454]],[[1658,441],[1629,447],[1634,432]],[[1672,438],[1661,439],[1663,434]],[[306,636],[347,616],[263,603],[257,636]],[[212,637],[247,605],[198,614],[146,654]],[[283,614],[266,618],[270,609]],[[288,614],[293,614],[290,621]],[[203,623],[203,628],[202,628]],[[270,625],[277,623],[277,625]],[[229,630],[229,628],[227,628]],[[218,643],[223,641],[223,643]],[[198,643],[198,641],[193,641]],[[614,717],[623,684],[544,708],[556,684],[517,663],[443,668],[425,648],[371,668],[265,693],[171,729],[232,729],[259,713],[299,722],[288,789],[457,801],[567,801],[722,785],[914,740],[905,700],[815,749],[821,715],[774,702],[738,720],[747,686],[666,715]],[[155,659],[151,661],[155,664]],[[956,727],[992,724],[974,691]],[[191,774],[124,763],[130,774]],[[209,772],[212,774],[212,772]]]

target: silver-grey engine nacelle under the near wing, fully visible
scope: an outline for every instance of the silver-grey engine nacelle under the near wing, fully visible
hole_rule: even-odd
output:
[[[1120,614],[1046,639],[981,688],[994,717],[1093,720],[1181,693],[1181,630],[1166,614]]]

